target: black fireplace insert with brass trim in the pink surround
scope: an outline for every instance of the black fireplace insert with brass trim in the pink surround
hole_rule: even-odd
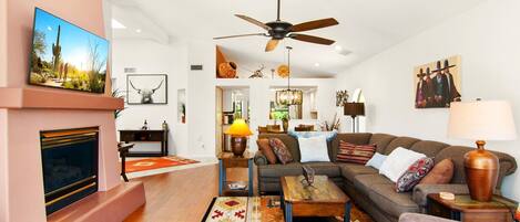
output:
[[[41,131],[40,139],[48,215],[98,191],[98,127]]]

